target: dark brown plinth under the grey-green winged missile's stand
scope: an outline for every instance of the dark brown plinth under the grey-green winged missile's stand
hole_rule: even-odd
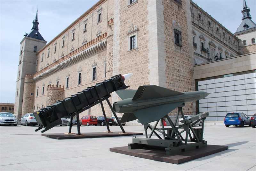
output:
[[[157,149],[129,149],[128,146],[110,148],[109,151],[140,157],[144,159],[164,161],[167,163],[180,164],[200,157],[227,150],[228,146],[207,145],[203,148],[181,152],[174,155],[166,155],[164,150]]]

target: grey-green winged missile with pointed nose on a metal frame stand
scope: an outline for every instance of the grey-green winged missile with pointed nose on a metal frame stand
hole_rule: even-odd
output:
[[[163,118],[176,107],[208,96],[204,91],[178,92],[156,85],[140,86],[137,90],[118,90],[122,99],[113,104],[117,113],[124,113],[121,123],[139,119],[142,125]]]

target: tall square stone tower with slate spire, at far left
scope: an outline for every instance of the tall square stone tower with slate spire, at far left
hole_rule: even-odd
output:
[[[22,113],[22,104],[24,103],[23,94],[25,75],[35,73],[36,53],[47,43],[42,35],[39,33],[38,25],[39,22],[36,11],[36,18],[33,21],[33,26],[31,28],[32,31],[29,34],[25,33],[24,38],[20,42],[20,55],[14,105],[14,115],[18,116],[18,118],[20,118],[24,114]]]

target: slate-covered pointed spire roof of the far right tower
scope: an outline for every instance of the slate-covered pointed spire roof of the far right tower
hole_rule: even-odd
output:
[[[244,6],[241,12],[243,14],[242,23],[237,28],[236,33],[256,27],[256,24],[252,21],[252,17],[250,15],[250,8],[248,8],[245,0],[244,0]]]

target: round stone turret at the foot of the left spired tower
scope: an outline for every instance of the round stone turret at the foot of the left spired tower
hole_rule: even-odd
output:
[[[23,105],[22,113],[32,113],[34,111],[34,80],[32,74],[26,74],[24,78],[24,92],[23,92]]]

